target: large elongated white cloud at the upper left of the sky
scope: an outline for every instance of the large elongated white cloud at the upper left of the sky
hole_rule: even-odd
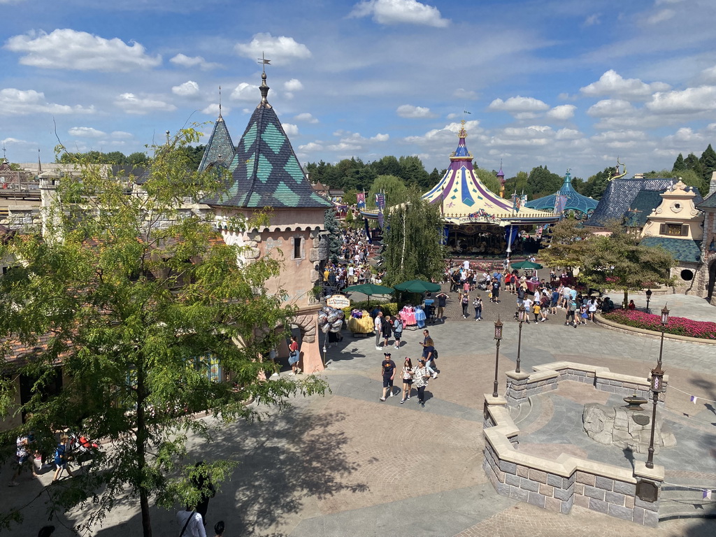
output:
[[[14,36],[5,48],[24,54],[21,64],[44,69],[128,72],[157,67],[162,62],[160,55],[147,55],[137,42],[126,44],[122,39],[105,39],[72,29]]]

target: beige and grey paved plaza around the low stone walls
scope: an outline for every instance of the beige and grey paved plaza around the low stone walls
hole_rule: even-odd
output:
[[[500,391],[504,390],[505,371],[515,367],[518,324],[511,319],[514,299],[503,295],[499,306],[485,301],[485,321],[476,322],[462,318],[455,296],[448,319],[428,326],[440,350],[440,375],[430,380],[425,408],[417,404],[417,397],[404,405],[400,396],[380,402],[383,353],[375,349],[374,337],[348,333],[339,347],[328,352],[323,375],[331,387],[329,395],[296,399],[287,412],[273,413],[253,424],[224,427],[210,445],[190,445],[195,459],[241,460],[232,479],[211,500],[208,526],[223,519],[226,536],[272,537],[716,534],[716,521],[702,518],[664,521],[652,529],[576,506],[569,515],[561,515],[497,495],[482,470],[483,394],[493,390],[495,343],[490,320],[498,313],[505,322]],[[690,301],[702,306],[697,304],[700,299],[693,297],[665,298],[673,306],[673,315],[686,314]],[[660,309],[663,301],[654,296],[652,309]],[[712,311],[716,318],[716,308]],[[708,313],[703,309],[702,314]],[[420,356],[422,333],[406,330],[403,339],[400,350],[390,349],[399,368],[405,356],[414,360]],[[538,364],[569,360],[647,377],[658,353],[657,338],[615,332],[596,324],[566,327],[562,313],[545,323],[524,325],[522,330],[525,371]],[[679,444],[671,453],[663,450],[655,462],[665,465],[667,483],[699,483],[716,489],[712,448],[716,445],[716,348],[667,339],[664,369],[670,381],[667,420],[672,422]],[[618,402],[608,394],[588,392],[588,387],[574,390],[570,382],[563,384],[521,416],[520,449],[548,457],[566,452],[608,458],[607,462],[629,468],[632,455],[591,441],[564,418],[579,411],[583,402]],[[699,397],[696,405],[690,402],[690,395]],[[646,456],[635,454],[633,458],[645,460]],[[3,470],[5,480],[8,471]],[[41,496],[26,513],[26,535],[34,535],[42,526],[42,485],[47,485],[49,478],[44,475],[42,483],[23,478],[21,486],[6,489],[12,493],[9,503],[13,504]],[[155,535],[178,535],[174,514],[153,508]],[[54,523],[71,525],[83,518],[82,509],[76,509]],[[138,505],[120,500],[95,535],[138,535],[140,528]],[[59,527],[56,533],[61,537],[71,534]]]

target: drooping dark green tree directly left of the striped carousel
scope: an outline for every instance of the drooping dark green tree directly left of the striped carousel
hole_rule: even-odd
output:
[[[390,208],[385,228],[385,266],[387,284],[411,279],[438,278],[442,274],[445,248],[440,244],[444,223],[440,205],[427,203],[413,187],[405,203]]]

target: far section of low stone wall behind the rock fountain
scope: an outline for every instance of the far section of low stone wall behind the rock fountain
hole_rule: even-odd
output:
[[[596,367],[588,364],[576,364],[575,362],[553,362],[551,364],[538,365],[533,368],[534,372],[516,373],[507,372],[507,392],[505,399],[510,405],[519,405],[526,402],[528,397],[539,395],[544,392],[556,390],[561,380],[574,380],[591,384],[602,392],[616,393],[619,395],[639,395],[651,400],[649,391],[649,379],[633,377],[628,374],[612,373],[609,367]],[[669,376],[664,375],[664,389],[669,384]],[[666,392],[659,394],[659,405],[664,405]]]

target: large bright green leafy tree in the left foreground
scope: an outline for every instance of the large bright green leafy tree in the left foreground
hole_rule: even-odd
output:
[[[195,505],[200,497],[191,484],[198,470],[185,461],[188,435],[211,441],[213,424],[260,417],[246,404],[252,398],[284,407],[296,393],[326,389],[313,375],[260,380],[274,369],[263,354],[284,337],[274,328],[287,326],[295,310],[281,303],[281,291],[264,287],[278,276],[278,261],[240,266],[241,249],[221,241],[210,215],[180,212],[185,198],[218,194],[223,184],[215,173],[187,173],[195,168],[185,148],[197,139],[185,130],[155,147],[143,195],[127,195],[135,185],[107,178],[95,155],[80,159],[82,176],[59,180],[44,235],[0,245],[1,257],[22,260],[0,278],[0,341],[6,356],[12,342],[34,349],[14,362],[12,377],[0,376],[2,416],[16,397],[14,376],[35,379],[17,410],[32,417],[2,433],[0,445],[34,430],[44,453],[52,453],[58,427],[110,440],[84,473],[45,490],[53,511],[84,505],[91,512],[85,529],[126,498],[139,505],[150,537],[150,503]],[[241,230],[266,223],[230,224]],[[211,376],[215,361],[231,382]],[[53,394],[47,386],[57,364],[64,383]],[[200,410],[215,420],[194,420]],[[221,483],[234,465],[217,460],[201,472]],[[0,526],[22,514],[4,513]]]

